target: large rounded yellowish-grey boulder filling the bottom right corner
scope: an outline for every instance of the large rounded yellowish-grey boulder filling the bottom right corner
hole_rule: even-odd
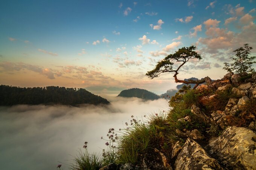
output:
[[[210,153],[233,170],[256,169],[256,134],[243,127],[228,127],[222,135],[210,140]]]

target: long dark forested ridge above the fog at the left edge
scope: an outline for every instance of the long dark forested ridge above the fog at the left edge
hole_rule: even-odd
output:
[[[21,88],[0,86],[0,105],[15,104],[108,104],[109,101],[94,95],[85,89],[65,88],[59,86]]]

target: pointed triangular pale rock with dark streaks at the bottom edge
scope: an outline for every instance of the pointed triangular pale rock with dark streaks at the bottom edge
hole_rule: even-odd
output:
[[[175,170],[223,170],[194,140],[187,139],[175,161]]]

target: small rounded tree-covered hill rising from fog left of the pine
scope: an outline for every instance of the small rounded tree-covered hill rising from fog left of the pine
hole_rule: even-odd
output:
[[[138,98],[143,98],[145,100],[156,100],[160,98],[159,95],[147,91],[145,89],[140,89],[140,88],[131,88],[127,90],[123,90],[120,92],[117,97],[138,97]]]

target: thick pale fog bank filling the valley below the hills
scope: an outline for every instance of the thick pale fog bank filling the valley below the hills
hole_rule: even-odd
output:
[[[109,128],[123,128],[131,115],[141,118],[168,110],[168,102],[162,98],[143,102],[115,97],[110,101],[108,106],[0,107],[0,169],[50,170],[62,164],[61,168],[67,170],[65,164],[85,141],[89,152],[99,153],[106,149],[100,138],[106,138]]]

